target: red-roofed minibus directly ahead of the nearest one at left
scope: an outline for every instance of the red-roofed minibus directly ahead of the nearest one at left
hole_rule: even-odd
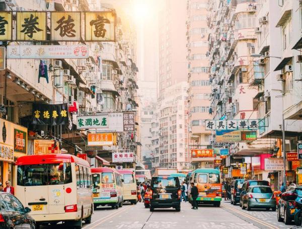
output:
[[[112,209],[123,206],[123,178],[115,169],[92,168],[93,203],[98,206],[109,205]]]

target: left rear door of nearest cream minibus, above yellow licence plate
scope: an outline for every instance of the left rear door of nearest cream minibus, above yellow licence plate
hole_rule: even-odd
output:
[[[32,210],[32,215],[48,214],[48,165],[21,166],[18,173],[20,185],[24,186],[25,206]]]

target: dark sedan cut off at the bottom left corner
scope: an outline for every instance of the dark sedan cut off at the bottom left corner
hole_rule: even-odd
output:
[[[0,192],[1,229],[35,229],[35,220],[29,215],[30,211],[14,195]]]

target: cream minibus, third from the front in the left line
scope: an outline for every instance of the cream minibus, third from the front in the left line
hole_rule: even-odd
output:
[[[130,170],[120,170],[119,173],[122,175],[123,183],[123,200],[124,202],[129,201],[131,204],[137,203],[137,192],[136,192],[136,181],[134,174]]]

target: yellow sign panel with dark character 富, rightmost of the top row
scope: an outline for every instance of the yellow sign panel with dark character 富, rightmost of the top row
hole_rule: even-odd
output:
[[[86,12],[85,40],[114,41],[115,20],[116,15],[113,12]]]

